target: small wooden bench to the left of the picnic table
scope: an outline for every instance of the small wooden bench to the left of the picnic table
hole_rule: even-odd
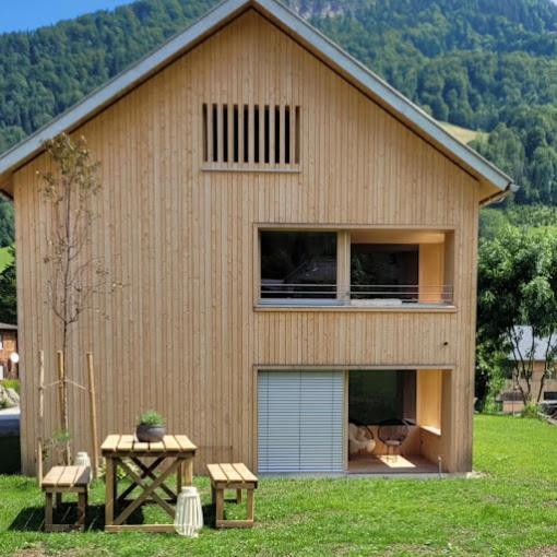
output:
[[[45,491],[45,532],[69,532],[85,529],[85,510],[87,508],[87,486],[91,477],[90,466],[54,466],[43,478]],[[78,494],[78,521],[75,524],[52,523],[52,497],[56,507],[62,503],[62,494]]]

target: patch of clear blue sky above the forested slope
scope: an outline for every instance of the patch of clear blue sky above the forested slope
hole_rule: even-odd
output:
[[[76,15],[110,10],[132,0],[0,0],[0,33],[51,25]]]

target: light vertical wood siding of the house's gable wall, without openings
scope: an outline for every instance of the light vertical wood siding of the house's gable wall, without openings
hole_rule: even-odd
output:
[[[203,170],[203,104],[299,106],[299,173]],[[257,366],[454,368],[448,466],[471,466],[478,185],[256,12],[248,12],[84,125],[103,164],[92,254],[125,287],[98,299],[69,354],[98,375],[100,434],[156,408],[210,461],[257,462]],[[252,155],[250,154],[250,157]],[[34,467],[37,351],[54,380],[59,327],[44,304],[37,170],[16,173],[23,463]],[[458,311],[258,311],[258,225],[454,229]],[[443,343],[448,342],[447,346]],[[45,434],[57,426],[47,395]],[[75,450],[91,450],[85,393],[71,391]]]

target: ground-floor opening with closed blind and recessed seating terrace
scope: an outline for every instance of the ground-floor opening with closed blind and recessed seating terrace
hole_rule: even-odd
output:
[[[259,371],[258,470],[437,472],[449,401],[440,369]]]

